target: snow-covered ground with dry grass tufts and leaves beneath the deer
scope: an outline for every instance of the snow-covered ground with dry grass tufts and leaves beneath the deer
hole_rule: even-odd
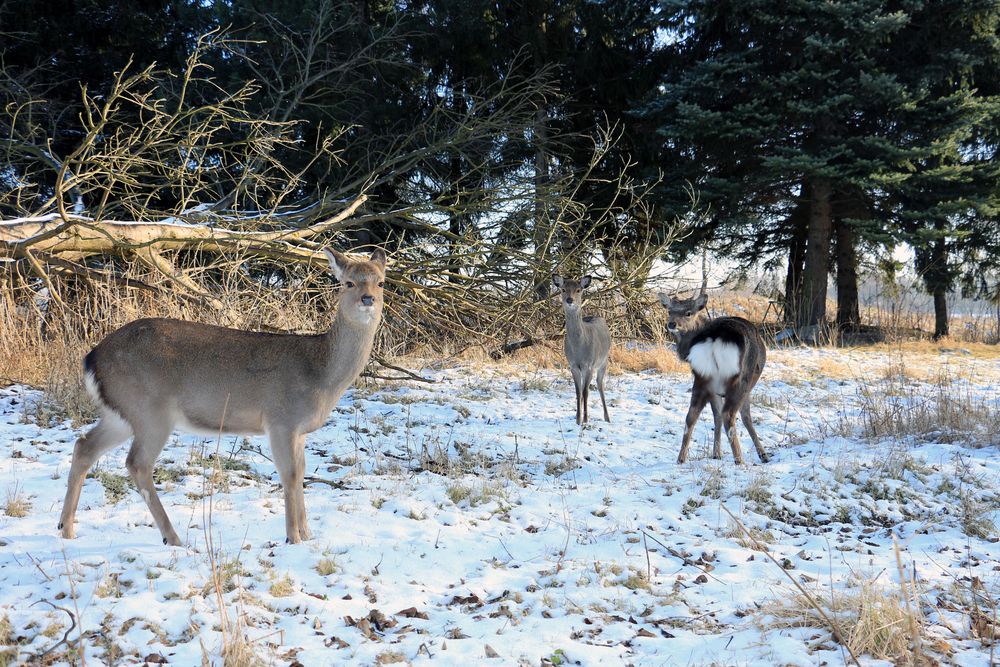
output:
[[[684,375],[610,377],[612,423],[582,430],[566,372],[476,365],[420,371],[435,384],[362,383],[307,440],[314,539],[299,545],[284,543],[263,439],[178,435],[157,484],[186,547],[161,544],[124,483],[124,446],[87,480],[77,539],[60,539],[83,429],[43,428],[38,392],[0,389],[0,503],[24,514],[0,511],[0,641],[6,618],[20,659],[37,656],[69,629],[65,609],[78,625],[46,656],[59,664],[81,638],[90,664],[222,664],[224,628],[279,665],[843,664],[823,623],[783,627],[791,575],[827,603],[831,586],[912,588],[923,650],[984,665],[977,635],[1000,581],[997,434],[982,434],[987,446],[872,440],[860,425],[875,387],[936,400],[934,383],[892,379],[934,364],[957,394],[1000,409],[995,359],[773,354],[754,403],[772,461],[757,462],[740,427],[740,468],[728,451],[707,457],[708,410],[692,459],[675,462]],[[835,619],[849,627],[849,613]]]

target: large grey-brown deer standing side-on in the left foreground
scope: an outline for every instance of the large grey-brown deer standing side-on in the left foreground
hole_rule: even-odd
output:
[[[285,496],[287,541],[310,539],[302,493],[305,436],[368,363],[382,317],[385,253],[351,260],[324,250],[341,284],[330,330],[317,335],[240,331],[143,319],[109,334],[84,359],[100,421],[76,442],[59,529],[74,537],[84,477],[133,436],[125,465],[164,544],[179,545],[153,486],[153,463],[175,428],[199,434],[266,433]]]

